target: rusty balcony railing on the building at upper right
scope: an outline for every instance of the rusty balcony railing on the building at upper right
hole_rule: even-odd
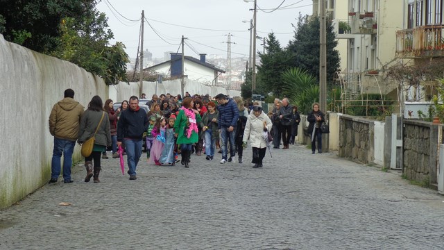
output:
[[[396,31],[396,56],[421,58],[444,56],[444,26],[420,26]]]

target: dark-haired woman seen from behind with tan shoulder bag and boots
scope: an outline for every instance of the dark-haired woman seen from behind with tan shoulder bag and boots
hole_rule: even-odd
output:
[[[92,136],[95,136],[94,148],[90,156],[85,157],[86,177],[85,182],[89,182],[94,176],[94,183],[100,183],[99,173],[101,170],[101,153],[107,146],[111,146],[110,119],[103,111],[103,102],[99,96],[92,97],[88,108],[80,119],[80,130],[78,133],[78,143],[82,144]],[[94,135],[95,133],[95,135]],[[94,174],[92,172],[92,160],[94,160]]]

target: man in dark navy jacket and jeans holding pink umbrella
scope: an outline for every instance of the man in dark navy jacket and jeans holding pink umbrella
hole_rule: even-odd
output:
[[[139,99],[130,97],[129,108],[123,110],[117,123],[117,147],[125,145],[130,180],[137,179],[136,168],[142,156],[142,138],[148,130],[148,117],[139,107]]]

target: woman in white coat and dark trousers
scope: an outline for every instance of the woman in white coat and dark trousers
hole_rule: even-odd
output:
[[[247,124],[244,131],[244,147],[246,147],[246,140],[250,139],[251,147],[253,147],[254,168],[262,167],[262,159],[266,153],[266,141],[264,139],[264,131],[270,131],[271,119],[262,111],[261,106],[253,106],[253,112],[248,115]]]

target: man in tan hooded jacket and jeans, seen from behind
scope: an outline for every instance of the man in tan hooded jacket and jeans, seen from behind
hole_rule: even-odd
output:
[[[65,90],[65,98],[54,104],[49,115],[49,133],[54,137],[53,158],[51,160],[51,180],[56,183],[60,175],[60,158],[63,154],[63,179],[72,183],[71,165],[72,153],[78,138],[80,118],[84,112],[83,106],[74,100],[74,90]]]

